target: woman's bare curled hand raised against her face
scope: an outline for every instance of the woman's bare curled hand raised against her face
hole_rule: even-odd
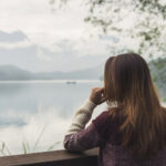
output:
[[[98,105],[106,101],[104,96],[104,87],[94,87],[91,90],[90,101]]]

